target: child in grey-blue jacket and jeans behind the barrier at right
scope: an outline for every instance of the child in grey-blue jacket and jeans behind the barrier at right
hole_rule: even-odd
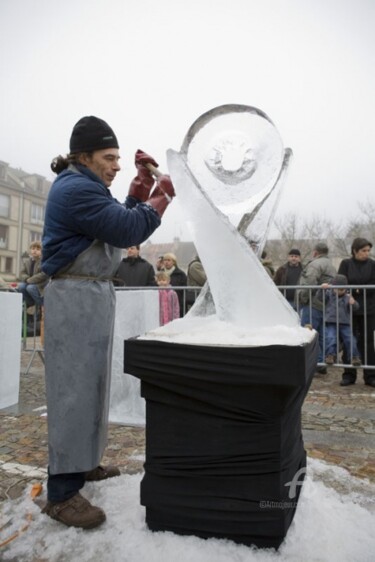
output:
[[[336,275],[332,285],[347,285],[345,275]],[[351,358],[352,365],[359,367],[361,359],[357,347],[357,340],[350,325],[351,310],[359,307],[352,295],[345,288],[330,289],[328,283],[323,283],[325,291],[325,338],[326,338],[326,363],[333,365],[337,358],[337,337],[342,341],[347,357]]]

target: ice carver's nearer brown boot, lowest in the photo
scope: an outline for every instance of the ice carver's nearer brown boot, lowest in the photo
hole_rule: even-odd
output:
[[[68,527],[81,527],[82,529],[94,529],[104,523],[106,519],[104,511],[100,507],[91,505],[79,492],[64,502],[47,502],[42,513],[46,513],[52,519],[56,519]]]

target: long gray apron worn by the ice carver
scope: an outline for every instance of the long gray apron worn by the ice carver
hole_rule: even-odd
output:
[[[121,250],[95,241],[45,289],[45,371],[51,474],[85,472],[107,443]]]

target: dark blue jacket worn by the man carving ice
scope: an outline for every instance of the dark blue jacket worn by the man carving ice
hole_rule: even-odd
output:
[[[57,273],[94,240],[117,248],[141,244],[159,225],[150,205],[129,196],[122,205],[88,168],[64,170],[48,195],[42,270]]]

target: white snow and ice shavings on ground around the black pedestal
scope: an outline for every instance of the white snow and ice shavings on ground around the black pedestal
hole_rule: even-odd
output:
[[[375,486],[345,470],[308,459],[294,521],[278,552],[231,541],[153,533],[139,503],[142,475],[122,475],[85,486],[107,521],[98,529],[67,528],[40,513],[30,499],[3,504],[1,541],[32,520],[29,528],[0,553],[12,562],[370,562],[375,552]],[[340,490],[327,487],[335,481]],[[7,524],[8,522],[8,524]],[[6,525],[7,524],[7,525]],[[5,527],[3,527],[6,525]]]

